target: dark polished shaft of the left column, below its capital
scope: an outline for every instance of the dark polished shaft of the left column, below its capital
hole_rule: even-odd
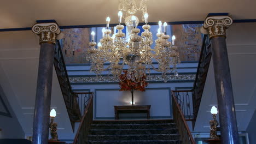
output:
[[[36,103],[34,107],[33,144],[48,143],[54,47],[54,44],[42,43],[40,48]]]

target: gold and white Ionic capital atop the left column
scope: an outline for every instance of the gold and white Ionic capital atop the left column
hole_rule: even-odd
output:
[[[32,27],[32,32],[39,35],[39,44],[55,44],[56,36],[61,34],[57,23],[36,23]]]

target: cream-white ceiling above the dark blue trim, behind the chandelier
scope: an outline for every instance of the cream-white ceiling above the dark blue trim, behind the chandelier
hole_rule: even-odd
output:
[[[136,0],[138,1],[138,0]],[[203,21],[208,13],[229,13],[233,19],[256,19],[251,0],[149,0],[149,22]],[[118,23],[118,0],[2,1],[0,29],[32,27],[36,20],[56,20],[60,26]],[[138,15],[141,17],[141,15]],[[140,20],[141,21],[141,20]]]

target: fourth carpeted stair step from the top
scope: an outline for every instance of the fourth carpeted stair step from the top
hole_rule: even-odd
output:
[[[179,134],[153,134],[153,135],[88,135],[90,141],[135,141],[135,140],[177,140]]]

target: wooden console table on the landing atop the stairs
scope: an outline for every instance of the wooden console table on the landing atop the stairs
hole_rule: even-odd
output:
[[[147,118],[149,119],[150,107],[151,105],[115,105],[115,119],[119,119],[119,113],[147,113]]]

